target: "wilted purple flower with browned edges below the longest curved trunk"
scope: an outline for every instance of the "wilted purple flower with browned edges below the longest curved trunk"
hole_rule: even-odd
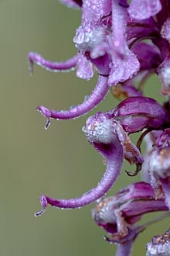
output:
[[[137,182],[121,189],[116,195],[100,200],[92,210],[98,226],[110,234],[107,238],[118,244],[117,256],[131,255],[131,247],[145,225],[136,226],[145,213],[168,211],[164,199],[155,200],[154,190],[145,182]]]

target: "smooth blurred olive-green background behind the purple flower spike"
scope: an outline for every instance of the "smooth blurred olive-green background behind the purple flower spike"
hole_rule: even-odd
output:
[[[74,210],[49,206],[43,216],[33,216],[40,209],[41,193],[57,198],[82,195],[97,185],[105,168],[81,131],[91,113],[76,120],[52,121],[44,130],[45,119],[36,112],[38,105],[67,109],[78,104],[90,93],[97,76],[82,81],[75,72],[56,74],[36,66],[33,76],[28,71],[30,50],[52,61],[72,57],[79,24],[80,12],[55,0],[0,1],[2,256],[114,255],[115,246],[104,241],[104,230],[91,219],[93,205]],[[155,78],[146,92],[154,91],[159,97],[158,89]],[[108,95],[93,112],[115,104]],[[128,178],[124,169],[109,195],[137,180]],[[146,242],[167,228],[168,220],[148,228],[138,237],[133,255],[145,255]]]

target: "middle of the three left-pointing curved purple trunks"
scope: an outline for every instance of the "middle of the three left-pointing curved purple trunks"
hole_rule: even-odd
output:
[[[78,106],[73,106],[68,110],[55,111],[53,109],[47,109],[45,106],[38,106],[37,109],[42,113],[47,119],[46,128],[49,125],[49,119],[74,119],[79,116],[83,116],[91,109],[93,109],[97,104],[99,104],[107,95],[109,90],[109,85],[107,83],[108,78],[99,75],[96,87],[93,92],[89,95],[88,99],[82,102]]]

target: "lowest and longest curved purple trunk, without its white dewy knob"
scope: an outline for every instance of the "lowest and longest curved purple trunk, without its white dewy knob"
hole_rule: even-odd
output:
[[[95,202],[97,199],[100,199],[100,197],[105,195],[105,193],[116,181],[118,175],[121,172],[121,166],[123,164],[123,149],[117,138],[117,135],[111,136],[110,140],[112,140],[112,142],[109,144],[100,142],[92,143],[93,147],[95,147],[99,153],[107,160],[107,169],[97,187],[75,199],[53,199],[49,196],[41,195],[40,202],[42,205],[42,210],[36,213],[35,216],[42,215],[48,204],[59,208],[74,209],[87,206],[91,202]]]

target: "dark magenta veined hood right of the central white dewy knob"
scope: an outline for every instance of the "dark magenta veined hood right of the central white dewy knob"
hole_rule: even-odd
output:
[[[167,112],[155,99],[140,96],[122,101],[114,109],[113,117],[120,120],[128,133],[157,129],[168,121]]]

